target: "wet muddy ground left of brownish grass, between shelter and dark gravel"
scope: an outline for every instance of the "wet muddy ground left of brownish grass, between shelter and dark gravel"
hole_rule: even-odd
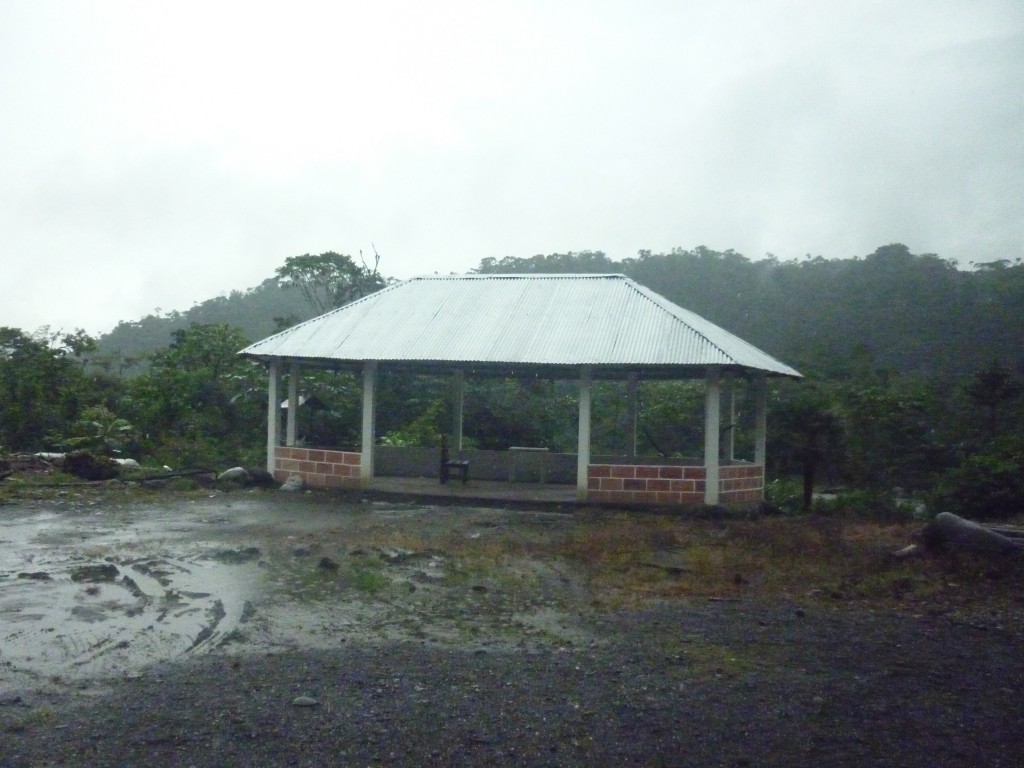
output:
[[[0,688],[130,677],[215,649],[579,641],[573,577],[507,554],[570,520],[270,492],[8,504]]]

